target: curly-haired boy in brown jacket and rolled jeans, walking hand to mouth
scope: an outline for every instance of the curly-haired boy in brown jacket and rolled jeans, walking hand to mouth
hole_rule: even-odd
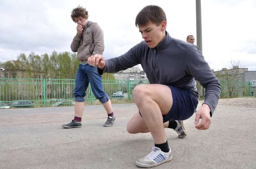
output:
[[[81,61],[75,75],[74,87],[74,119],[62,125],[64,128],[81,127],[84,111],[85,92],[90,83],[94,96],[103,104],[108,119],[103,126],[111,126],[115,122],[111,101],[102,88],[102,77],[97,73],[97,68],[88,64],[88,57],[100,54],[104,51],[103,31],[97,23],[88,21],[88,11],[78,6],[71,12],[72,20],[77,24],[76,35],[71,43],[71,50],[77,52],[77,58]]]

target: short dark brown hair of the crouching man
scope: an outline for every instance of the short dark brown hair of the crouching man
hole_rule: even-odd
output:
[[[139,25],[145,26],[149,21],[153,22],[155,25],[160,25],[162,21],[166,20],[166,15],[163,9],[159,6],[149,5],[145,6],[138,14],[135,19],[135,26]]]

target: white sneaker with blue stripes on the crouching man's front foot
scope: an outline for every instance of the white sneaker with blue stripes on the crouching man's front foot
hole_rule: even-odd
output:
[[[161,151],[158,147],[152,147],[152,151],[143,158],[136,160],[136,165],[142,168],[151,168],[162,163],[171,161],[172,154],[171,149],[169,148],[169,152],[165,153]]]

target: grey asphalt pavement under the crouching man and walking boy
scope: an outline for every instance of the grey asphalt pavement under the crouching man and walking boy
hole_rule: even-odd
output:
[[[201,103],[199,103],[201,105]],[[0,109],[0,169],[138,169],[135,160],[154,145],[150,133],[129,134],[135,104],[113,104],[116,121],[102,105],[85,106],[81,128],[64,129],[74,106]],[[173,159],[154,169],[256,169],[256,108],[220,104],[209,130],[195,114],[184,139],[166,129]]]

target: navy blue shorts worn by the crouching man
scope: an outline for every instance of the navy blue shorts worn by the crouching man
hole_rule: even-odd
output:
[[[168,86],[168,85],[167,85]],[[196,110],[199,95],[196,91],[183,90],[173,86],[171,89],[173,104],[170,112],[163,115],[163,123],[169,120],[186,120],[189,119]],[[139,112],[140,113],[140,112]],[[141,114],[141,113],[140,113]]]

